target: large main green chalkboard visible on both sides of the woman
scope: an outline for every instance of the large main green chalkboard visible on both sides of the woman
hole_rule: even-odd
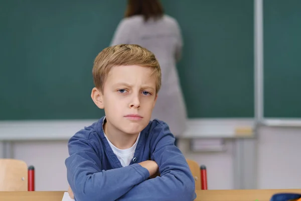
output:
[[[93,59],[126,1],[1,1],[0,120],[94,119]],[[253,117],[253,1],[162,1],[184,35],[190,118]]]

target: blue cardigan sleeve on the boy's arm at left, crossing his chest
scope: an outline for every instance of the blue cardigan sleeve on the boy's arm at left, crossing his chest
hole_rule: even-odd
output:
[[[70,156],[65,164],[67,179],[77,201],[116,200],[149,177],[148,170],[139,164],[103,170],[101,156],[90,144],[92,142],[82,134],[69,140]]]

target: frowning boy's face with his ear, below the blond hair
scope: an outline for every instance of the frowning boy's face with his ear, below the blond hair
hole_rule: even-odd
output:
[[[148,125],[157,100],[152,70],[137,65],[114,66],[106,77],[103,93],[92,90],[94,103],[105,111],[108,127],[137,134]]]

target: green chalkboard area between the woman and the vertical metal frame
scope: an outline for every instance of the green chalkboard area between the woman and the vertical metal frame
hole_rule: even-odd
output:
[[[254,117],[253,0],[163,2],[184,35],[189,117]]]

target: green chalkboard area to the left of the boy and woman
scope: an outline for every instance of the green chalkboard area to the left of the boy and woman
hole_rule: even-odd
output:
[[[125,1],[2,1],[0,119],[93,119],[95,56],[110,44]]]

